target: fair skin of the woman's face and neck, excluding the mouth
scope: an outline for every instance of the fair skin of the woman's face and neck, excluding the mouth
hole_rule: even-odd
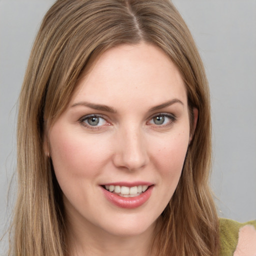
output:
[[[89,124],[90,114],[101,116],[97,125]],[[155,123],[157,116],[163,124]],[[196,109],[194,118],[195,127]],[[44,142],[63,191],[71,255],[150,254],[190,134],[183,80],[159,48],[123,44],[100,55]],[[109,202],[101,185],[120,181],[150,182],[149,199],[132,209]]]

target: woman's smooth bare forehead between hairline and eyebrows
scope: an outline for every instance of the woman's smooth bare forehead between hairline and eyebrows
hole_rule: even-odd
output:
[[[157,104],[177,97],[186,104],[184,82],[160,48],[147,43],[121,44],[94,61],[79,80],[70,103],[91,100],[102,104]]]

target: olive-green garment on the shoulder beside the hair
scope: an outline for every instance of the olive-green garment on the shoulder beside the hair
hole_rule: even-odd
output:
[[[219,219],[220,256],[233,256],[238,242],[239,229],[245,225],[252,225],[256,228],[256,220],[239,223],[226,218]]]

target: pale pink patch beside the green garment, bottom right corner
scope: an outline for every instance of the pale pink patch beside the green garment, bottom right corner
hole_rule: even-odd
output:
[[[256,230],[252,225],[240,228],[233,256],[256,256]]]

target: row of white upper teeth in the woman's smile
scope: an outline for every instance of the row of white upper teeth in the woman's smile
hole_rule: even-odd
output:
[[[119,195],[123,197],[132,197],[137,196],[141,192],[144,192],[148,188],[147,185],[138,185],[138,186],[114,186],[114,185],[105,185],[105,189],[110,192],[118,193]]]

